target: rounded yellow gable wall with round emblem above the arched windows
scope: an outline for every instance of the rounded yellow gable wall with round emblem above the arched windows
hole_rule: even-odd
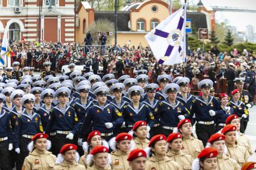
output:
[[[151,11],[152,6],[157,6],[156,13]],[[160,22],[169,16],[168,8],[162,4],[151,3],[145,5],[139,12],[131,11],[131,30],[137,31],[137,19],[145,20],[145,31],[151,31],[151,19],[158,19]]]

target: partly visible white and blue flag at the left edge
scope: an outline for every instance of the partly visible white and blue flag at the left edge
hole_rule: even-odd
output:
[[[0,65],[5,67],[11,66],[11,57],[8,55],[7,28],[4,29],[4,37],[2,38]]]

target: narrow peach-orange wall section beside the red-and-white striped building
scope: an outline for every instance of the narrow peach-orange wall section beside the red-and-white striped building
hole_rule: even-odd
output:
[[[79,28],[75,28],[75,41],[76,43],[83,43],[84,37],[86,37],[86,33],[83,33],[83,20],[86,19],[86,32],[89,26],[89,16],[88,12],[84,7],[81,8],[81,10],[78,13],[79,18]]]

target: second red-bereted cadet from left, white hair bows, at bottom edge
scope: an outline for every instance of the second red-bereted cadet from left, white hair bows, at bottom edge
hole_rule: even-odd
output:
[[[58,154],[55,170],[86,170],[86,167],[78,164],[80,159],[77,147],[73,144],[65,144],[60,149],[60,154]]]

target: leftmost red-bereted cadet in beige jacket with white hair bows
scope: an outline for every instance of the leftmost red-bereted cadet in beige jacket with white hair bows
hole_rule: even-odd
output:
[[[51,142],[48,135],[37,133],[28,144],[30,154],[25,158],[22,169],[52,169],[55,165],[56,156],[49,152]]]

